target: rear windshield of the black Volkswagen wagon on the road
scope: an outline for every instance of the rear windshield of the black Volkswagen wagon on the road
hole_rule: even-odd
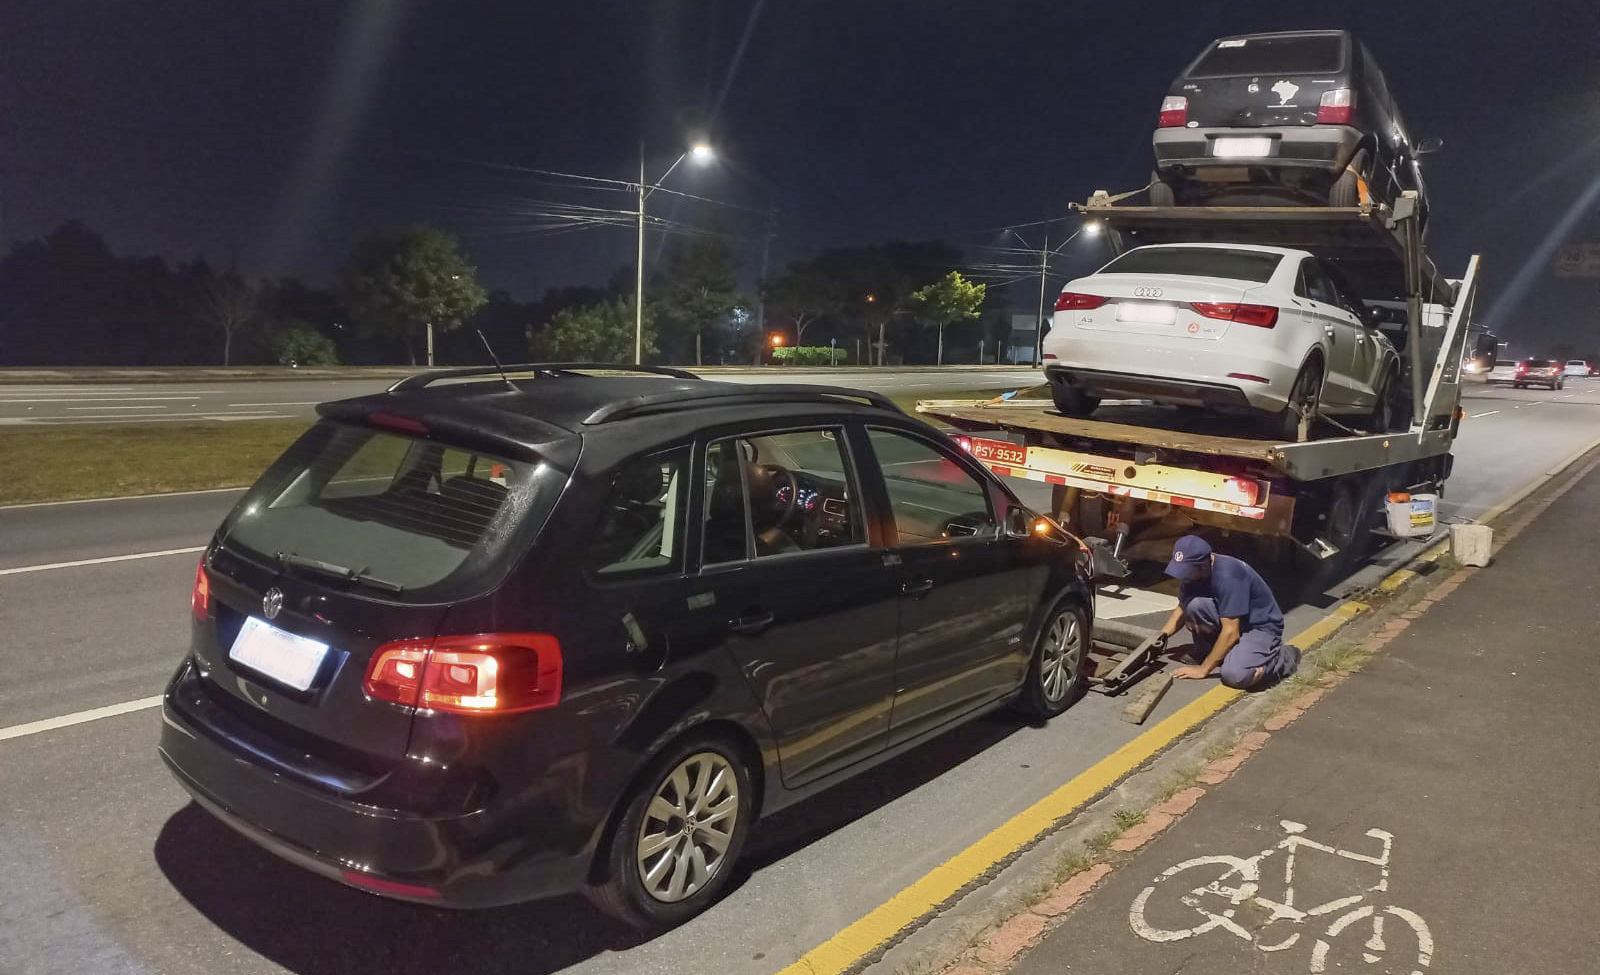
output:
[[[430,599],[443,584],[485,583],[494,556],[523,535],[517,527],[542,520],[565,480],[546,467],[322,423],[250,488],[222,538],[267,562],[310,559],[389,597]]]

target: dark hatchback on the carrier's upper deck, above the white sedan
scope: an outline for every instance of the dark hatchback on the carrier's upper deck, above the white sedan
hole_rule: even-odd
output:
[[[1427,195],[1382,70],[1349,30],[1242,34],[1211,42],[1168,88],[1154,136],[1154,205],[1283,200],[1355,207]]]

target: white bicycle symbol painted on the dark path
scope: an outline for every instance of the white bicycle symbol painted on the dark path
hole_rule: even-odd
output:
[[[1333,917],[1312,945],[1312,975],[1322,975],[1328,970],[1328,956],[1336,943],[1349,945],[1350,940],[1362,935],[1365,935],[1365,941],[1360,941],[1358,954],[1365,964],[1389,962],[1392,972],[1422,975],[1434,957],[1434,935],[1427,930],[1427,922],[1406,908],[1368,900],[1371,893],[1389,890],[1389,855],[1394,849],[1394,834],[1382,829],[1366,831],[1368,837],[1382,845],[1382,852],[1374,857],[1307,839],[1302,823],[1282,820],[1278,826],[1288,836],[1254,857],[1195,857],[1163,871],[1139,892],[1139,897],[1133,898],[1133,906],[1128,911],[1133,933],[1146,941],[1163,943],[1221,930],[1253,943],[1259,951],[1286,951],[1301,941],[1304,933],[1301,925],[1320,925],[1322,919]],[[1362,893],[1310,906],[1296,906],[1296,858],[1307,850],[1370,863],[1378,868],[1378,884],[1366,887]],[[1270,871],[1272,879],[1264,881],[1261,868],[1280,853],[1283,855],[1283,881],[1282,889],[1277,889],[1277,871]],[[1275,897],[1269,897],[1269,892]],[[1406,930],[1410,930],[1410,938],[1403,938],[1405,945],[1395,946],[1397,953],[1403,953],[1397,957],[1395,953],[1390,953],[1390,941],[1397,940],[1397,935],[1403,937]],[[1413,940],[1416,943],[1414,964],[1406,953]]]

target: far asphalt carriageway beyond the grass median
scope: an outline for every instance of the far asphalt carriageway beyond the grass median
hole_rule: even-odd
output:
[[[928,368],[883,373],[766,368],[714,373],[707,378],[758,384],[822,383],[882,391],[1014,389],[1042,381],[1034,370],[1010,367],[994,371]],[[0,426],[286,419],[312,416],[314,407],[322,402],[381,392],[394,379],[0,386]]]

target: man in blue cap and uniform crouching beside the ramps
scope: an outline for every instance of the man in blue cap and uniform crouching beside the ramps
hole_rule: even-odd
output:
[[[1162,628],[1162,639],[1187,626],[1198,664],[1178,668],[1173,677],[1210,677],[1242,690],[1264,690],[1299,666],[1299,648],[1283,642],[1283,612],[1266,580],[1246,562],[1218,556],[1198,535],[1173,546],[1166,575],[1178,580],[1178,608]]]

